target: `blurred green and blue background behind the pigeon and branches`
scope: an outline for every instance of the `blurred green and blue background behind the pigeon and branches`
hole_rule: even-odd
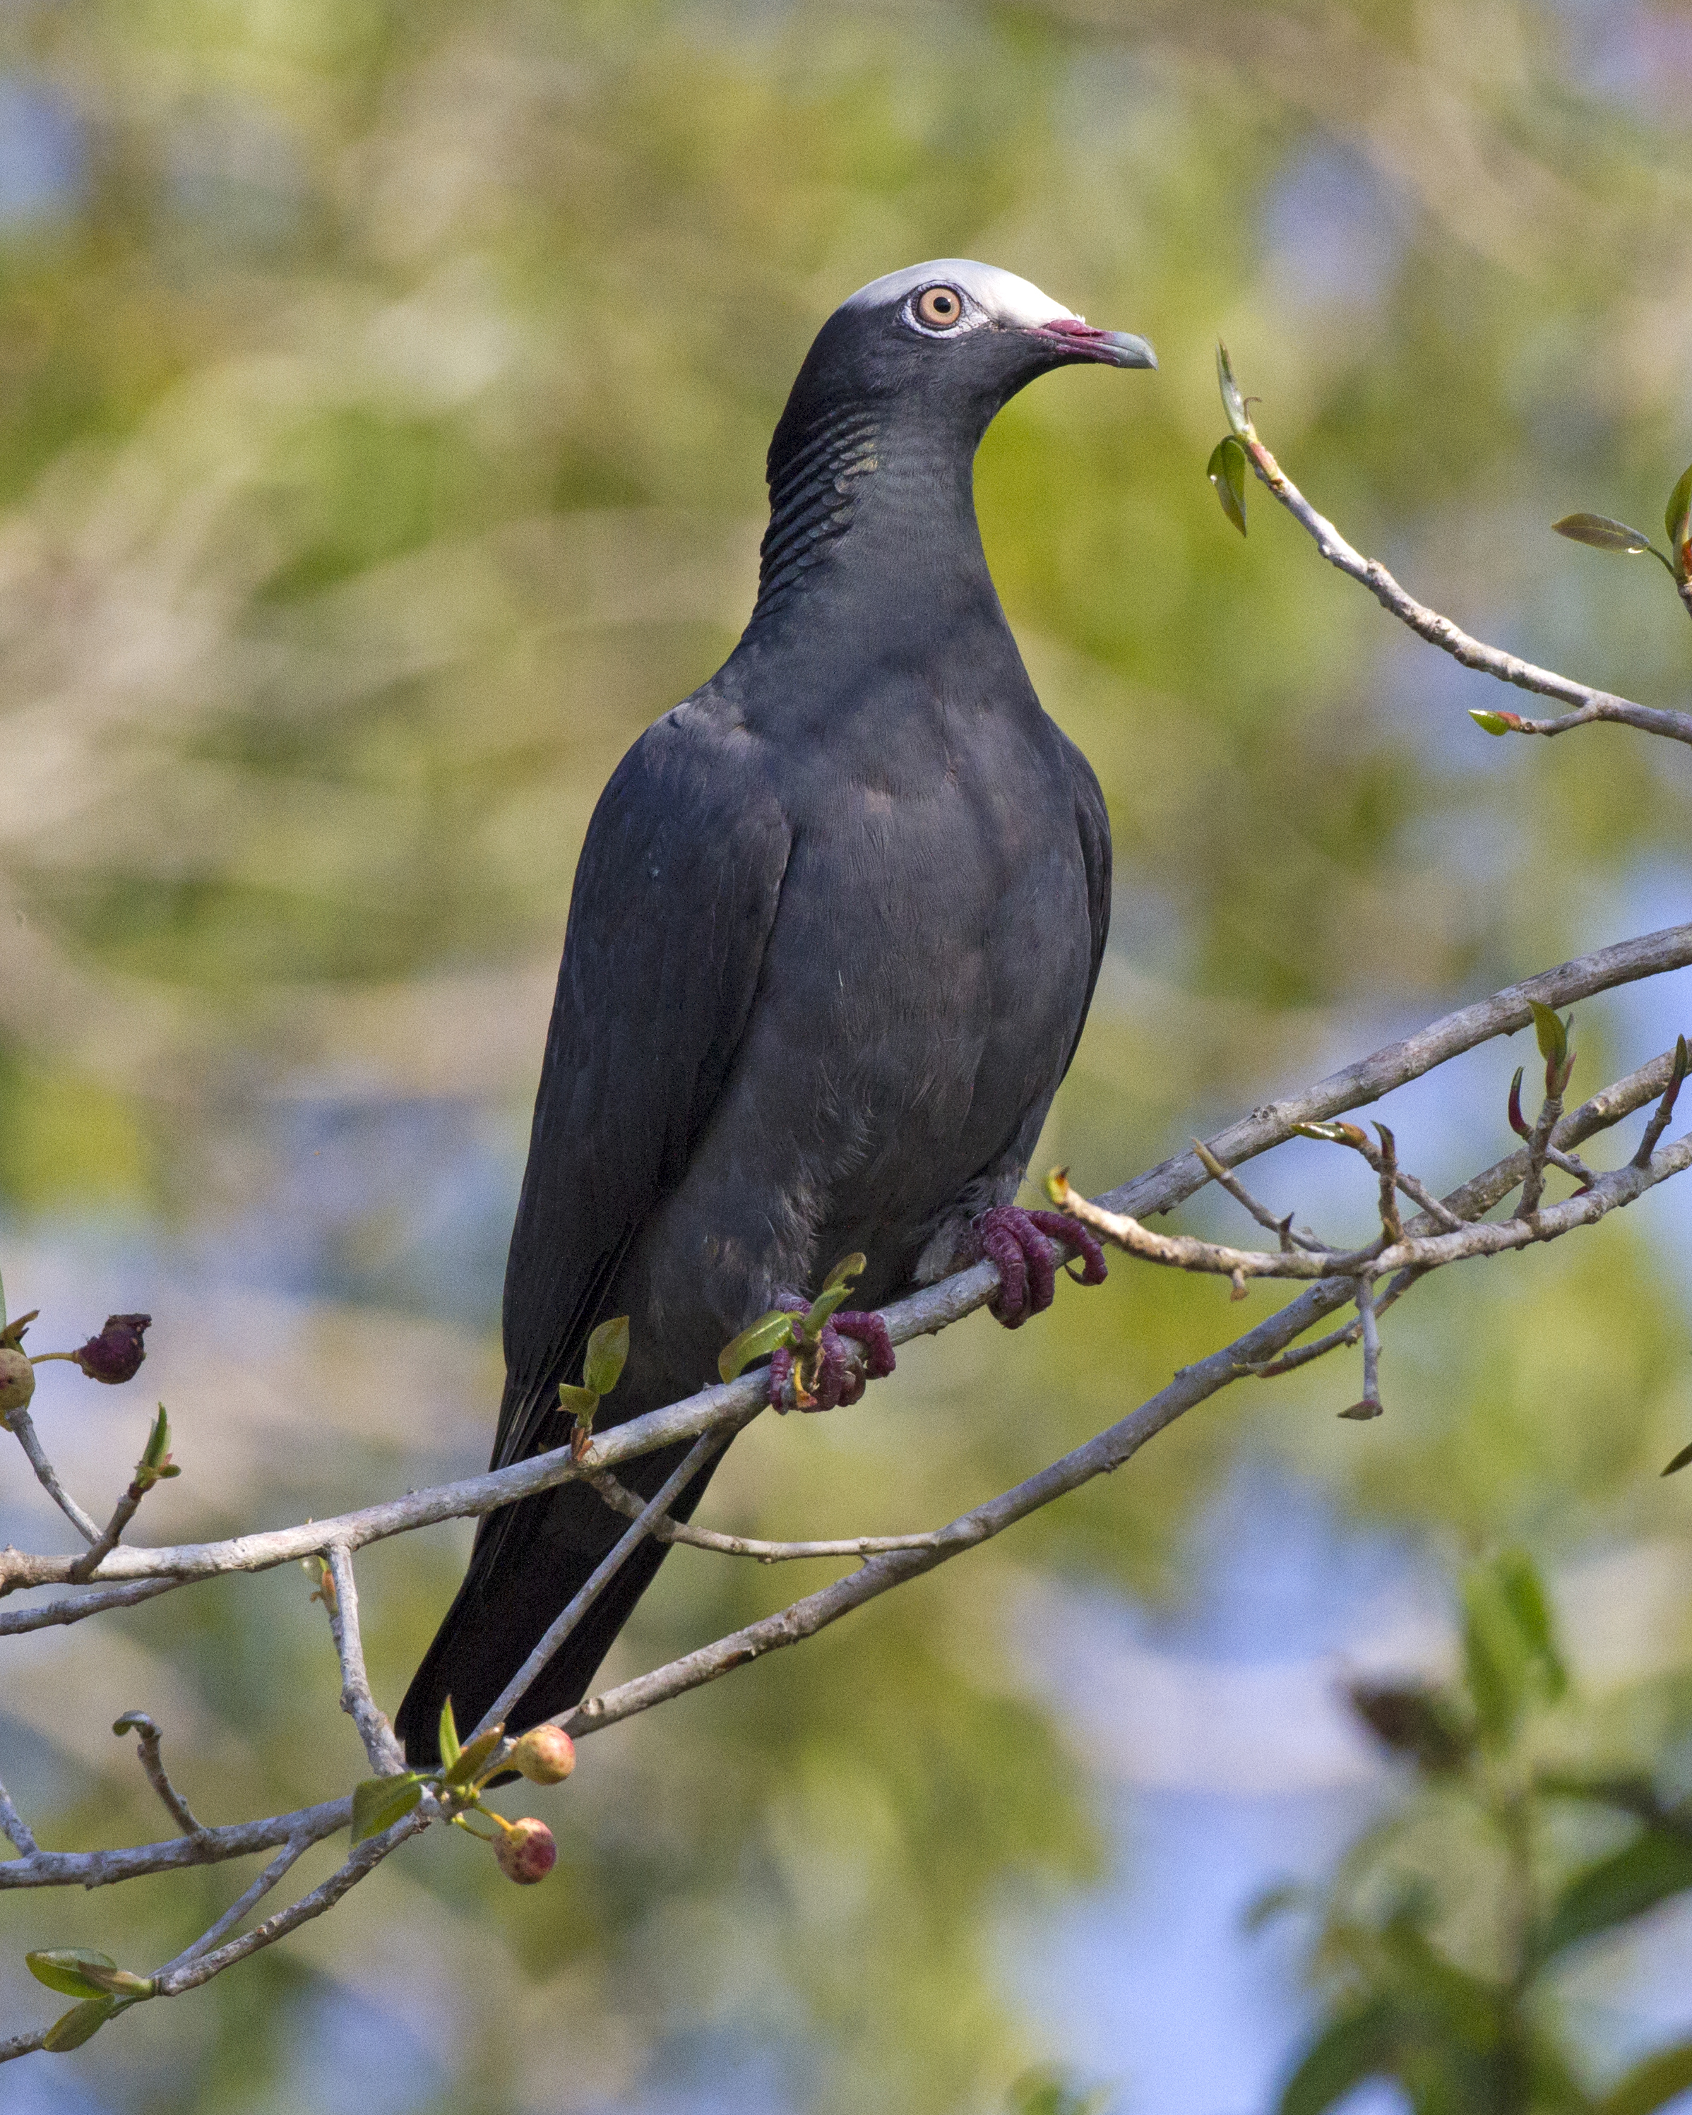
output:
[[[785,389],[893,266],[988,258],[1163,364],[1045,381],[979,463],[1117,838],[1041,1165],[1121,1180],[1690,916],[1684,751],[1489,740],[1483,679],[1263,495],[1242,544],[1203,478],[1220,332],[1290,472],[1417,592],[1681,700],[1660,569],[1548,522],[1652,527],[1692,455],[1688,95],[1692,13],[1645,0],[6,0],[0,1267],[38,1349],[157,1318],[123,1394],[42,1368],[85,1500],[161,1396],[184,1476],[154,1538],[480,1466],[588,812],[732,647]],[[1580,1009],[1576,1091],[1692,1026],[1688,996]],[[1525,1055],[1396,1096],[1406,1163],[1447,1187],[1497,1157]],[[1366,1231],[1337,1159],[1261,1187]],[[1690,1231],[1658,1193],[1434,1282],[1387,1326],[1381,1421],[1335,1419],[1339,1362],[1233,1390],[584,1745],[548,1887],[431,1836],[286,1948],[11,2068],[4,2104],[937,2115],[1055,2064],[1121,2111],[1267,2107],[1318,2003],[1309,1927],[1242,1912],[1400,1798],[1337,1686],[1447,1667],[1464,1561],[1548,1569],[1599,1747],[1660,1760],[1692,1717],[1692,1497],[1656,1478],[1692,1438]],[[977,1316],[861,1409],[742,1438],[711,1519],[945,1519],[1239,1313],[1119,1263],[1015,1339]],[[0,1533],[61,1540],[21,1457]],[[465,1540],[362,1561],[389,1705]],[[609,1673],[823,1576],[683,1550]],[[110,1734],[142,1707],[209,1819],[326,1798],[362,1770],[334,1688],[298,1571],[197,1586],[8,1645],[0,1774],[49,1844],[152,1836]],[[4,1897],[6,2024],[53,2007],[27,1946],[146,1967],[231,1893]],[[1673,1910],[1586,1950],[1557,2001],[1593,2077],[1686,2030],[1688,1965]]]

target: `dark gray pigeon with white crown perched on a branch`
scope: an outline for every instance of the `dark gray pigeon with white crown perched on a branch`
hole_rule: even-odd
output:
[[[630,1356],[601,1423],[713,1381],[730,1337],[852,1250],[863,1307],[983,1248],[1007,1263],[1003,1320],[1049,1299],[1043,1237],[990,1208],[1087,1017],[1110,829],[998,607],[973,459],[1017,389],[1077,362],[1155,366],[960,260],[873,281],[812,345],[770,444],[747,632],[628,751],[582,850],[495,1466],[567,1438],[558,1383],[613,1313]],[[624,1481],[649,1495],[679,1459]],[[584,1485],[482,1523],[400,1711],[412,1762],[444,1696],[461,1728],[480,1717],[624,1527]],[[514,1726],[582,1698],[662,1555],[628,1561]]]

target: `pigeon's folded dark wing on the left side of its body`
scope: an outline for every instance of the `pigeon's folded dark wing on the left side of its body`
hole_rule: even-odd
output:
[[[599,1303],[723,1089],[791,833],[747,736],[681,706],[628,751],[575,869],[505,1267],[493,1466],[533,1453]]]

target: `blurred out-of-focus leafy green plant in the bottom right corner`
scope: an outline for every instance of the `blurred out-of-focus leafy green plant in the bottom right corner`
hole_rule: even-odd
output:
[[[1692,1891],[1692,1802],[1673,1781],[1686,1684],[1667,1711],[1658,1700],[1669,1741],[1629,1755],[1612,1713],[1569,1694],[1544,1584],[1506,1550],[1464,1580],[1461,1681],[1360,1684],[1351,1700],[1417,1785],[1335,1878],[1318,1942],[1328,2018],[1277,2115],[1322,2115],[1371,2077],[1396,2079],[1415,2115],[1652,2115],[1679,2100],[1692,2041],[1605,2090],[1582,2079],[1559,1971]]]

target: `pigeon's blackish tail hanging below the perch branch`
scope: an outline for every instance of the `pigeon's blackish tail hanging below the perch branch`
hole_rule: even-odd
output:
[[[628,1461],[622,1481],[643,1497],[681,1466],[685,1445]],[[677,1521],[689,1519],[704,1497],[721,1455],[706,1461],[670,1506]],[[552,1618],[588,1582],[599,1561],[615,1548],[628,1521],[584,1483],[525,1497],[508,1512],[491,1514],[470,1557],[463,1586],[446,1612],[423,1665],[417,1669],[396,1730],[412,1768],[440,1762],[440,1707],[450,1696],[459,1732],[482,1717],[512,1675],[539,1643]],[[647,1538],[603,1588],[582,1622],[548,1660],[539,1679],[525,1690],[508,1717],[512,1732],[582,1703],[599,1662],[618,1631],[635,1614],[635,1603],[654,1582],[668,1552],[666,1542]]]

